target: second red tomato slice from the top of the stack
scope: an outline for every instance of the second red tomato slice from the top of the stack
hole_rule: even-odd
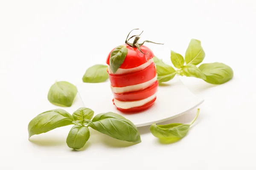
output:
[[[128,74],[109,74],[109,79],[113,87],[126,87],[148,82],[157,75],[154,62],[141,71]]]

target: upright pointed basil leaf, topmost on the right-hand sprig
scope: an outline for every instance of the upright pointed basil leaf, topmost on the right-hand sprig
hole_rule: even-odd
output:
[[[204,50],[201,46],[201,41],[192,39],[189,42],[189,47],[186,50],[185,61],[187,64],[198,65],[204,60]]]

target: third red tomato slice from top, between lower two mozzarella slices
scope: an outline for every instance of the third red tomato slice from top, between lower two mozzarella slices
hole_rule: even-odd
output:
[[[151,86],[141,91],[133,91],[133,92],[123,93],[123,94],[113,93],[113,95],[115,99],[122,102],[142,100],[155,94],[157,92],[157,87],[158,87],[158,81],[154,82]]]

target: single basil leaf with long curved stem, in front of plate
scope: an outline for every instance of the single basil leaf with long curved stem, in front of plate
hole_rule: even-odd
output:
[[[154,123],[150,126],[150,131],[159,139],[179,140],[189,132],[189,128],[197,119],[199,112],[200,109],[198,109],[195,119],[190,124],[171,123],[168,125],[156,125]]]

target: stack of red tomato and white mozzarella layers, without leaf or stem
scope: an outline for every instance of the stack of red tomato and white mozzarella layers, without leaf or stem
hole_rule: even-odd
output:
[[[158,87],[157,71],[153,61],[154,54],[145,45],[140,49],[127,45],[128,54],[120,68],[113,73],[109,67],[108,74],[113,92],[113,104],[122,112],[138,112],[150,108],[156,100]]]

